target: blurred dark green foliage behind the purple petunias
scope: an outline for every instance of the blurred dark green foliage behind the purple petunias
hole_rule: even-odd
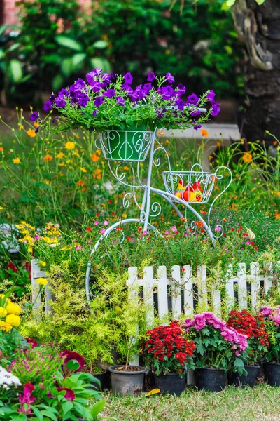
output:
[[[239,99],[243,53],[223,0],[172,4],[101,0],[82,10],[75,0],[19,1],[18,25],[0,27],[2,104],[38,105],[38,93],[57,91],[92,67],[133,72],[135,83],[152,69],[168,71],[188,92],[213,88],[218,98]]]

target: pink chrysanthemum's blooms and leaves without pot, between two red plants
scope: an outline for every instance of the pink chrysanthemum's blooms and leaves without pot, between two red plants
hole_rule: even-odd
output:
[[[244,372],[241,357],[248,347],[247,337],[219,319],[212,312],[196,314],[183,322],[183,328],[196,344],[197,368],[215,367],[224,370],[237,368]]]

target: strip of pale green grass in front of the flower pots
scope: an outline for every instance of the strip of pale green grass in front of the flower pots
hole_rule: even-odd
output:
[[[108,396],[102,414],[119,421],[279,421],[280,387],[227,387],[212,394],[189,389],[180,397]]]

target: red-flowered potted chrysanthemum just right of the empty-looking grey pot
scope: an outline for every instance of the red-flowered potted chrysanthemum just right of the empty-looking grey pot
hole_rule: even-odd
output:
[[[141,354],[162,394],[179,396],[185,390],[186,373],[193,368],[194,349],[195,343],[184,338],[179,321],[148,330]]]

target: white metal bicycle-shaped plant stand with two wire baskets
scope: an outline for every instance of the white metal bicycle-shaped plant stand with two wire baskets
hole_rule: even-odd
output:
[[[214,244],[215,239],[223,235],[222,225],[218,225],[218,230],[216,225],[218,235],[215,235],[211,229],[211,210],[213,209],[214,203],[228,189],[232,182],[230,169],[221,166],[216,169],[215,173],[209,173],[203,171],[200,164],[195,163],[190,171],[172,171],[167,150],[156,138],[155,132],[108,130],[101,133],[96,140],[96,146],[98,149],[102,149],[113,176],[116,180],[131,189],[124,196],[124,208],[129,207],[130,199],[132,199],[134,204],[139,208],[140,215],[139,218],[120,220],[106,229],[106,232],[100,236],[99,241],[92,248],[91,255],[97,250],[100,242],[106,239],[120,225],[136,222],[144,225],[144,231],[148,231],[148,229],[156,231],[156,228],[151,223],[151,218],[160,215],[161,206],[158,201],[153,200],[152,193],[158,194],[165,199],[176,210],[177,215],[186,220],[187,229],[195,229],[197,223],[199,223],[200,227],[205,229],[205,232],[207,232]],[[167,164],[167,171],[163,171],[162,173],[165,189],[156,189],[152,187],[151,183],[153,166],[160,166],[162,160],[162,156],[157,157],[160,153],[165,156]],[[117,163],[114,163],[115,161]],[[142,169],[145,167],[146,161],[148,161],[148,171],[144,178]],[[128,168],[128,171],[127,168],[126,171],[124,170],[124,166]],[[212,201],[207,219],[205,220],[202,214],[197,212],[193,206],[209,202],[215,183],[224,177],[225,172],[229,179],[228,184]],[[139,189],[144,192],[141,203],[137,200],[136,194],[136,191]],[[183,207],[183,213],[179,209],[180,205]],[[190,220],[188,218],[189,214],[195,215],[196,220]],[[88,302],[90,302],[90,267],[91,262],[89,261],[85,277],[85,290]]]

